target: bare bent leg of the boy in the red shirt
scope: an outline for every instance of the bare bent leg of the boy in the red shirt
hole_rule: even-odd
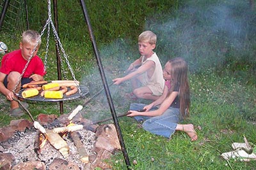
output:
[[[19,80],[20,77],[20,73],[18,72],[11,72],[10,74],[8,74],[8,85],[7,85],[7,89],[12,91],[15,88],[15,85],[17,83],[17,81]],[[20,89],[20,84],[17,87],[17,90]],[[16,97],[15,97],[16,98]],[[15,108],[19,108],[19,103],[17,103],[17,101],[11,101],[11,109],[15,109]]]

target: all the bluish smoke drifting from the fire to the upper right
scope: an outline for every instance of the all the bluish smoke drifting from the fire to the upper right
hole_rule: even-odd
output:
[[[246,1],[186,1],[179,11],[170,9],[165,15],[148,17],[143,31],[151,30],[157,34],[154,51],[162,66],[170,58],[184,57],[193,72],[219,69],[230,59],[255,61],[255,56],[250,53],[253,48],[250,42],[255,41],[255,16]],[[116,39],[99,49],[108,85],[114,78],[124,76],[129,64],[140,57],[137,42],[131,39]],[[111,60],[113,62],[109,62]],[[99,69],[95,68],[93,75],[87,79],[93,82],[89,89],[95,94],[103,85]],[[124,99],[124,94],[132,90],[128,81],[124,85],[112,85],[109,90],[115,108],[120,106],[124,110],[129,107],[132,101]],[[96,101],[100,105],[93,103],[92,108],[100,108],[98,111],[102,115],[110,115],[104,90]],[[102,107],[106,110],[102,111]],[[92,119],[99,120],[100,114],[95,113]]]

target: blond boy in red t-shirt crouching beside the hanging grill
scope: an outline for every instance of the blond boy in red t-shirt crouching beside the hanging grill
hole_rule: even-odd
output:
[[[37,46],[36,43],[38,43]],[[23,111],[19,108],[19,103],[13,100],[16,98],[13,94],[13,90],[19,92],[20,87],[26,83],[44,80],[44,63],[40,57],[36,55],[40,45],[41,38],[38,32],[32,30],[25,31],[22,33],[20,49],[7,53],[1,61],[0,92],[3,93],[9,101],[11,101],[10,115],[13,117],[20,117],[24,115]],[[34,48],[35,51],[33,52]],[[26,67],[19,85],[15,88],[29,57],[31,56],[33,57],[31,58],[28,67]],[[26,104],[26,106],[28,107],[28,104]]]

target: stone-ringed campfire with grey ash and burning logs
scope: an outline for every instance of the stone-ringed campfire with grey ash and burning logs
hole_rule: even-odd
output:
[[[115,125],[93,124],[79,111],[38,115],[37,121],[13,120],[0,129],[0,166],[5,169],[102,169],[120,150]]]

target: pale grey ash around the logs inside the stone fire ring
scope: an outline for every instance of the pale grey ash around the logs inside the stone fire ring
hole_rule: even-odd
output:
[[[77,131],[81,135],[81,141],[88,155],[93,155],[93,144],[95,143],[95,133],[91,131]],[[67,142],[70,148],[67,158],[64,158],[61,153],[47,141],[41,152],[37,155],[34,151],[34,141],[38,133],[34,130],[29,132],[15,132],[15,135],[4,143],[0,143],[4,148],[4,153],[12,153],[15,157],[15,164],[27,162],[31,160],[39,160],[45,163],[46,169],[49,169],[50,164],[55,158],[65,159],[69,162],[74,162],[83,169],[84,163],[79,158],[79,153],[72,139],[67,136],[63,139]]]

